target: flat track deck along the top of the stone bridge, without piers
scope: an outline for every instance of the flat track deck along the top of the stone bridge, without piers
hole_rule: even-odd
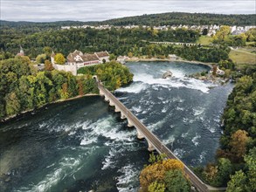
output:
[[[115,107],[121,110],[121,113],[125,114],[127,119],[130,120],[133,125],[140,130],[145,138],[155,147],[156,151],[160,154],[166,154],[170,159],[176,159],[181,161],[175,154],[173,154],[168,147],[166,147],[162,141],[160,141],[155,134],[149,131],[140,120],[138,120],[133,113],[131,113],[126,106],[124,106],[119,99],[116,99],[112,93],[110,93],[101,83],[98,83],[98,87],[101,93],[107,96],[108,99],[114,103]],[[184,163],[183,163],[184,164]],[[208,186],[202,182],[197,175],[195,175],[190,168],[184,164],[184,171],[189,176],[190,182],[197,188],[198,191],[209,191]]]

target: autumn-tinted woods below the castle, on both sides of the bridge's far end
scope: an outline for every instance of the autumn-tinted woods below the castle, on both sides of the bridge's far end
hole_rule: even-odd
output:
[[[133,79],[127,67],[115,62],[97,65],[76,77],[71,72],[56,70],[38,72],[26,56],[0,61],[0,120],[59,99],[98,93],[92,78],[94,70],[99,79],[113,89]]]

